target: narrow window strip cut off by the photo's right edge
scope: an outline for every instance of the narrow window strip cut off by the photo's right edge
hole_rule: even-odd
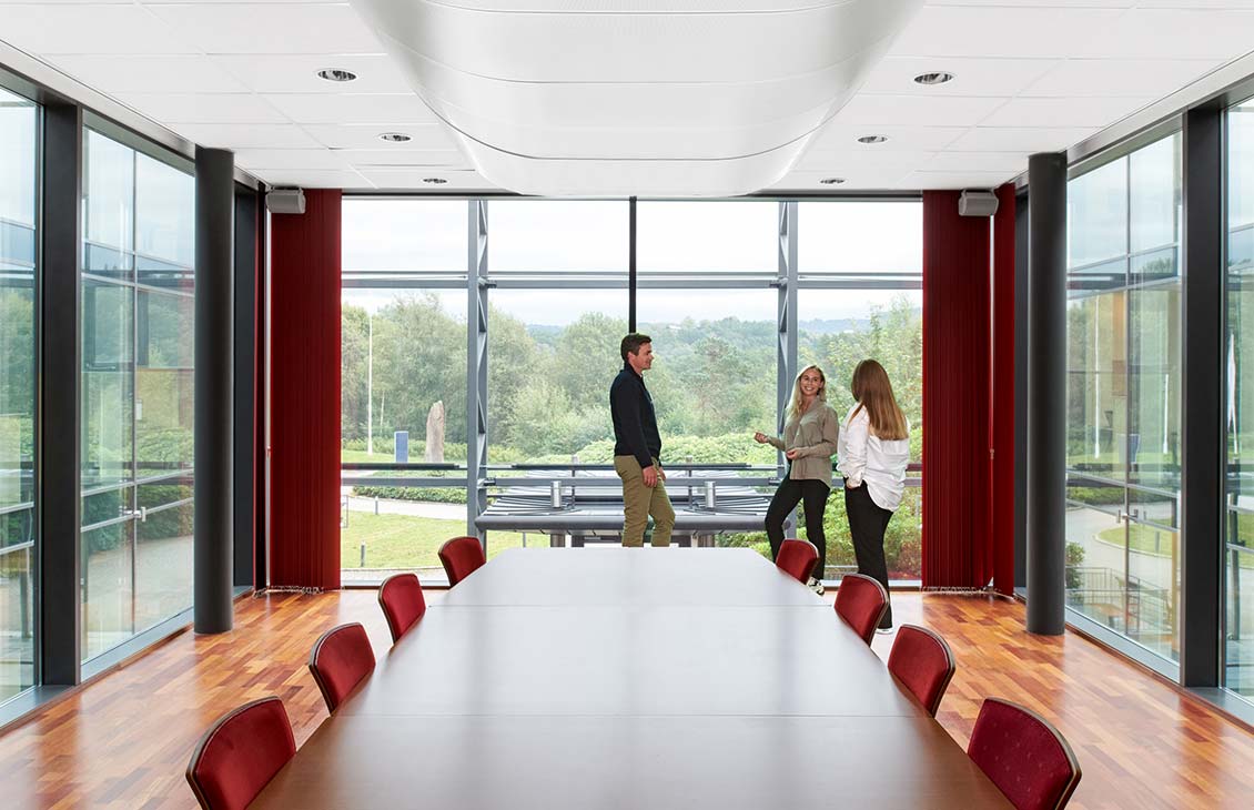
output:
[[[1224,685],[1254,698],[1254,104],[1228,110]]]

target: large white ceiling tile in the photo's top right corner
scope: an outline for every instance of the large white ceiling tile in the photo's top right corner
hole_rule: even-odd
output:
[[[1096,59],[1218,59],[1254,46],[1254,11],[1132,9],[1072,54]]]

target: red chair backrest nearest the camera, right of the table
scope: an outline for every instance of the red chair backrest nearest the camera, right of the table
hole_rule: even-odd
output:
[[[1080,762],[1048,720],[1009,701],[984,700],[967,755],[1017,810],[1065,807]]]

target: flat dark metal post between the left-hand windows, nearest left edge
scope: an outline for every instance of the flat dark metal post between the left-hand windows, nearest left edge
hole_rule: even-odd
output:
[[[39,611],[41,681],[79,682],[83,109],[44,107],[43,285],[39,302]]]

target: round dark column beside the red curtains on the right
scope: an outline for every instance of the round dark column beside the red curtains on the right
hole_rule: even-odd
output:
[[[1067,480],[1067,158],[1028,159],[1027,629],[1062,634]]]

